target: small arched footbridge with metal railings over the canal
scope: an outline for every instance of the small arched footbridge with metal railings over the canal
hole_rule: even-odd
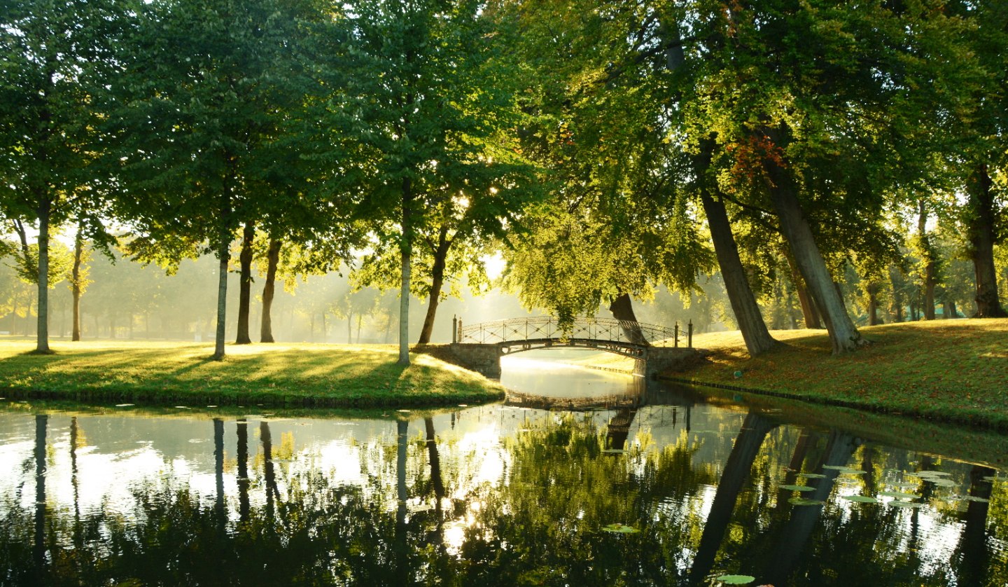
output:
[[[545,348],[585,348],[636,360],[635,372],[650,376],[700,356],[692,348],[692,324],[680,329],[627,320],[583,319],[564,328],[548,317],[513,318],[463,325],[453,319],[450,354],[454,362],[488,377],[500,377],[500,358]]]

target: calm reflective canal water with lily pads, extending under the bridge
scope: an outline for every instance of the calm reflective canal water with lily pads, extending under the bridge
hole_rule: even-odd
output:
[[[1008,585],[1000,437],[503,382],[370,419],[2,400],[0,585]]]

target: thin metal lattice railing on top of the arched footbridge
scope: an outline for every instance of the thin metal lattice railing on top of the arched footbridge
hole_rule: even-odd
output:
[[[692,347],[692,322],[686,329],[675,326],[655,326],[628,320],[582,319],[569,328],[560,328],[555,318],[512,318],[463,326],[462,320],[453,319],[453,343],[498,344],[526,340],[591,340],[623,343],[626,345],[677,347],[679,342]]]

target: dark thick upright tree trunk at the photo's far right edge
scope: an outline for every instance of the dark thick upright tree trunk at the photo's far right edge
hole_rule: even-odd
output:
[[[1008,317],[998,299],[998,278],[994,265],[997,213],[992,188],[987,165],[979,165],[967,186],[970,209],[967,234],[970,238],[970,258],[973,259],[977,280],[976,318]]]

